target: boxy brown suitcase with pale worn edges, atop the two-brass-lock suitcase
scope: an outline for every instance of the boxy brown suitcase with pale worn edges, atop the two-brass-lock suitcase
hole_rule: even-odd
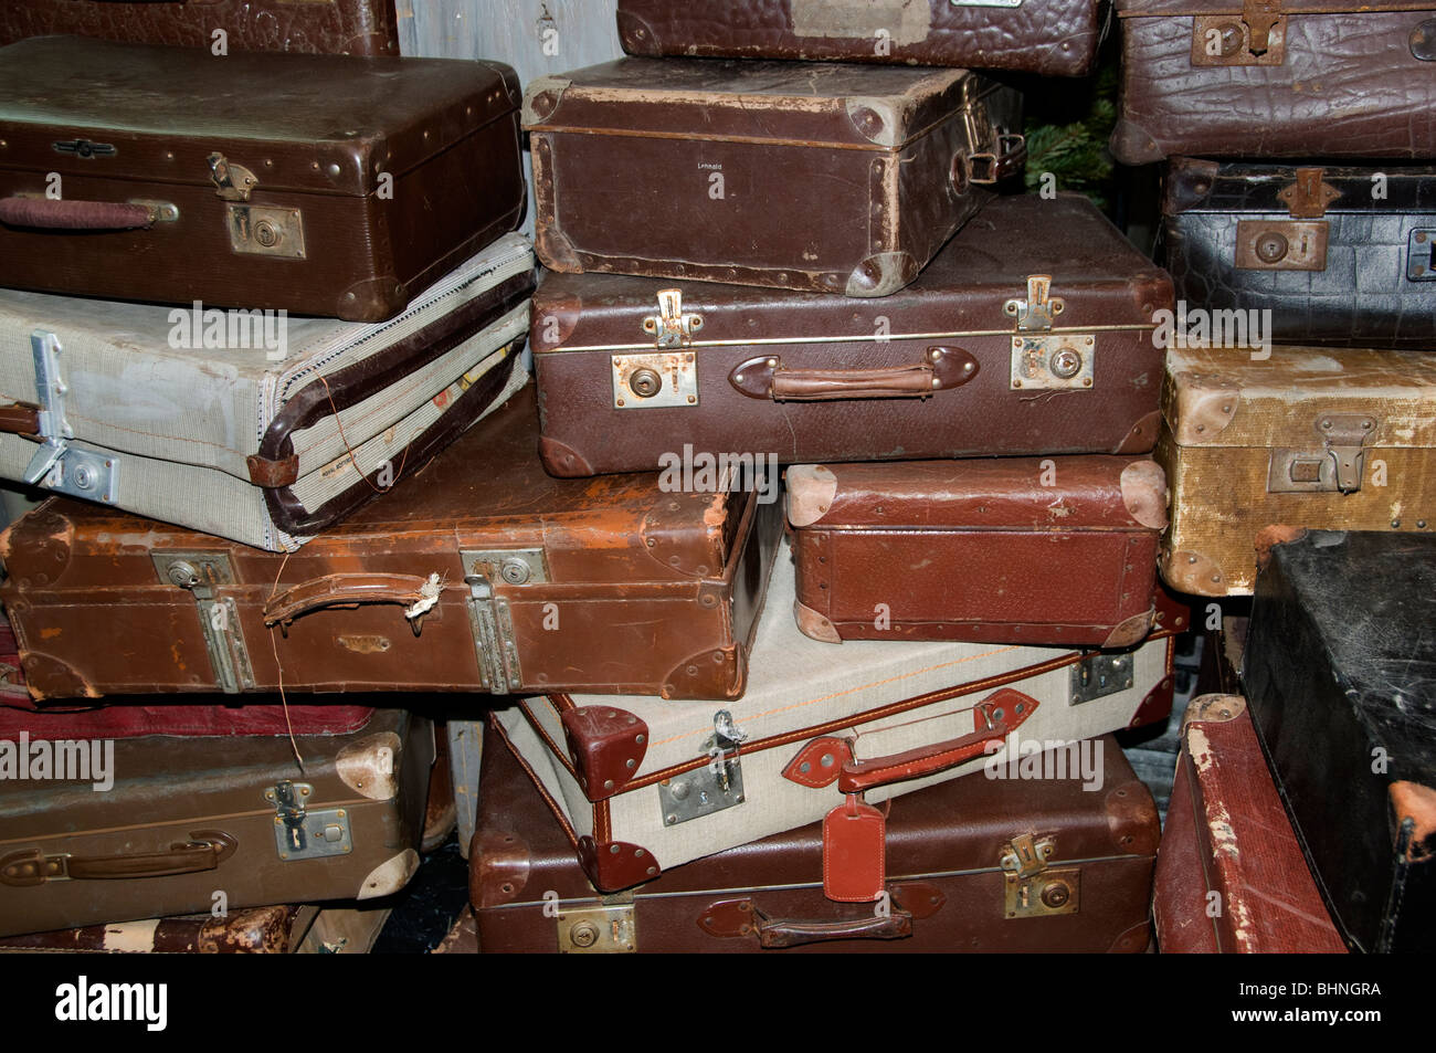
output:
[[[887,296],[1027,157],[966,70],[619,59],[524,89],[553,270]]]

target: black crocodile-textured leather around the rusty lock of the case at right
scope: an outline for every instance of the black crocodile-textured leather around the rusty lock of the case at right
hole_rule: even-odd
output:
[[[1436,282],[1406,277],[1412,230],[1436,230],[1436,168],[1386,171],[1387,197],[1371,200],[1376,168],[1327,168],[1337,198],[1327,214],[1325,270],[1238,270],[1236,223],[1287,220],[1277,192],[1291,165],[1223,164],[1216,174],[1173,168],[1163,244],[1178,299],[1209,310],[1271,310],[1271,336],[1288,343],[1420,346],[1436,351]],[[1205,185],[1205,192],[1196,187]],[[1176,201],[1192,201],[1182,211]]]

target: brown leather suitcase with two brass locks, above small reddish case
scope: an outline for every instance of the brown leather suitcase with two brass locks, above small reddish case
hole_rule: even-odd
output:
[[[530,346],[559,476],[661,457],[781,463],[1140,454],[1172,282],[1080,194],[1004,197],[882,302],[546,274]]]

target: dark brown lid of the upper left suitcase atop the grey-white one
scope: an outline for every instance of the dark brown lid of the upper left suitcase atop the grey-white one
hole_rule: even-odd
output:
[[[34,37],[0,47],[0,167],[363,197],[517,105],[498,62]]]

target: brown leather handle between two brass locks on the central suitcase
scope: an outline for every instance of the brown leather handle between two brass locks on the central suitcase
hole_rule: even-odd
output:
[[[923,361],[887,369],[784,369],[777,355],[750,358],[728,374],[748,398],[774,402],[820,402],[856,398],[928,398],[966,384],[978,361],[962,348],[928,348]]]

